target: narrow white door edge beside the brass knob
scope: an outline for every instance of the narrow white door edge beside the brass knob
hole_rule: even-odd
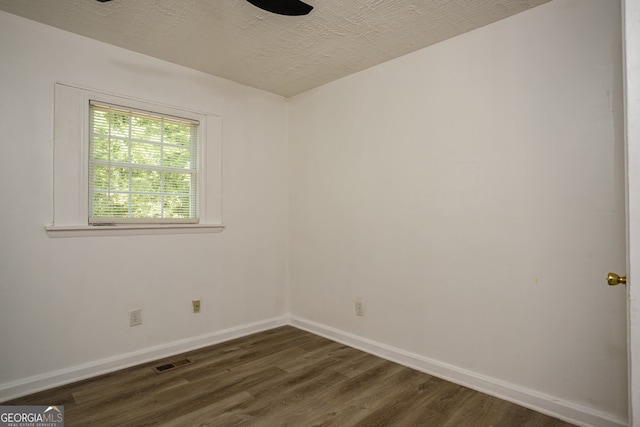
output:
[[[640,427],[640,1],[622,0],[627,143],[629,425]]]

